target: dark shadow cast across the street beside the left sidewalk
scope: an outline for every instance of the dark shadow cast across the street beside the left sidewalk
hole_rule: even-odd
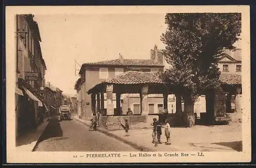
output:
[[[58,118],[53,118],[49,121],[49,124],[47,125],[44,132],[42,132],[40,138],[38,139],[38,143],[45,141],[46,139],[52,138],[52,137],[61,137],[63,136],[63,131],[60,127],[61,120]]]

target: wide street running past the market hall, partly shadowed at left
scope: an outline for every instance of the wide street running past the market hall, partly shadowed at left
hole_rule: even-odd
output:
[[[52,119],[35,151],[136,151],[130,145],[76,121]]]

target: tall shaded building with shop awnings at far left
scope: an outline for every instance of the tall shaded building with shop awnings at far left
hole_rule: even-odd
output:
[[[23,131],[36,128],[44,117],[44,98],[40,89],[45,87],[38,24],[33,15],[16,15],[16,137]]]

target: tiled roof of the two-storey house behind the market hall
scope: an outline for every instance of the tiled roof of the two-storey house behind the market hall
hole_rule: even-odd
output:
[[[138,66],[163,66],[163,64],[154,63],[152,60],[140,60],[140,59],[120,59],[100,61],[96,63],[85,63],[83,65],[138,65]]]

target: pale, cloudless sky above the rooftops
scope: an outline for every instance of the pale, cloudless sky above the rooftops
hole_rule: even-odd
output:
[[[165,14],[35,15],[46,81],[66,94],[75,94],[78,64],[124,59],[150,59],[150,50],[166,30]],[[76,65],[76,69],[80,69]]]

